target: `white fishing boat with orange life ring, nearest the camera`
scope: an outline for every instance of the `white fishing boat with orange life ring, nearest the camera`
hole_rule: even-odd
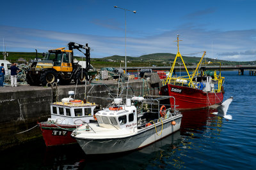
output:
[[[78,127],[71,136],[86,154],[119,153],[143,148],[179,131],[182,115],[161,104],[161,98],[114,99],[97,112],[97,124]]]

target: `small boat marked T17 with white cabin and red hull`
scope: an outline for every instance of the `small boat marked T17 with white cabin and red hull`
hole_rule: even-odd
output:
[[[71,132],[79,125],[94,120],[96,104],[72,99],[74,91],[68,94],[70,97],[51,104],[51,118],[47,122],[38,123],[46,146],[77,143],[76,139],[71,138]]]

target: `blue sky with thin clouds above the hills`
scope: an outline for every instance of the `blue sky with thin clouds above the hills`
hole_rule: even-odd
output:
[[[3,39],[9,52],[46,52],[74,41],[88,43],[93,58],[125,55],[125,11],[113,6],[137,11],[126,12],[127,56],[177,53],[179,34],[181,54],[256,60],[256,0],[3,1],[0,51]]]

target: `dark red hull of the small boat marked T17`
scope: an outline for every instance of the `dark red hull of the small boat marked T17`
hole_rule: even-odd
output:
[[[38,124],[42,131],[42,136],[44,138],[46,146],[77,143],[76,139],[71,137],[71,133],[76,129],[76,125],[57,126],[54,124],[47,124],[47,122],[42,122]]]

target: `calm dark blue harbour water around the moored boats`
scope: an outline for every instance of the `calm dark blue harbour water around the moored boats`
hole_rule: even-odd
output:
[[[212,110],[183,113],[180,131],[142,150],[88,156],[78,145],[47,148],[42,138],[1,152],[7,169],[256,169],[256,76],[224,71],[233,120]],[[3,169],[4,169],[3,168]],[[2,168],[1,168],[2,169]]]

